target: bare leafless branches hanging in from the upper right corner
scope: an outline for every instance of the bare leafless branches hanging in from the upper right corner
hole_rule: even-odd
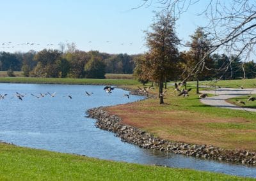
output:
[[[164,10],[168,10],[173,17],[179,18],[191,6],[198,6],[199,3],[205,3],[202,0],[141,0],[141,6],[151,5],[154,3],[161,4]],[[250,57],[250,54],[255,55],[253,51],[256,45],[256,6],[255,1],[250,0],[230,0],[230,1],[206,1],[205,9],[198,11],[197,15],[204,15],[209,23],[205,31],[211,33],[212,46],[205,54],[211,55],[213,52],[225,50],[225,54],[236,55],[230,59],[229,63],[222,71],[227,69],[227,66],[232,64],[237,57],[244,61]],[[140,8],[138,6],[137,8]],[[205,64],[204,57],[195,65],[189,76],[193,76],[200,72]],[[243,65],[243,64],[242,64]],[[243,68],[243,67],[242,67]],[[244,74],[245,75],[245,74]]]

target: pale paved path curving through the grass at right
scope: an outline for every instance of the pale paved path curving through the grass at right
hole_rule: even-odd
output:
[[[213,91],[200,91],[200,92],[217,95],[213,97],[200,99],[201,103],[204,103],[205,105],[216,106],[220,108],[228,108],[233,110],[256,112],[256,109],[254,108],[241,108],[240,106],[232,105],[231,103],[228,103],[227,101],[225,101],[225,99],[230,99],[237,96],[256,94],[256,88],[252,88],[252,89],[221,88]]]

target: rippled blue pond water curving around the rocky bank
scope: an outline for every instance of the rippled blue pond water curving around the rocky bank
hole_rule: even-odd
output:
[[[8,94],[5,99],[0,100],[0,140],[25,147],[100,159],[256,177],[255,167],[146,150],[122,142],[113,133],[97,129],[94,126],[95,120],[84,117],[87,109],[143,99],[132,95],[127,99],[123,95],[129,92],[117,88],[112,94],[108,94],[103,91],[103,87],[0,83],[0,94]],[[92,96],[85,96],[85,91],[93,92]],[[26,94],[23,101],[13,97],[15,92]],[[40,99],[31,96],[31,93],[38,95],[40,92],[56,92],[56,96]]]

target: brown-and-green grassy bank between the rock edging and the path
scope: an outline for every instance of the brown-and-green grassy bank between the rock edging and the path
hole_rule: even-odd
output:
[[[188,99],[175,96],[173,86],[167,93],[164,105],[159,99],[147,99],[108,111],[122,117],[124,124],[166,140],[256,151],[256,113],[203,105],[195,87]]]

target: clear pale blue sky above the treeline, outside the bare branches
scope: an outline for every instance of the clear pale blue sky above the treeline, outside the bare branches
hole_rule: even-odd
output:
[[[143,53],[147,50],[143,30],[152,23],[152,11],[159,9],[152,4],[150,8],[131,10],[141,2],[0,0],[0,51],[59,49],[60,42],[74,42],[79,50],[84,51]],[[189,34],[193,34],[198,25],[204,25],[204,18],[195,15],[195,11],[203,7],[204,4],[196,4],[180,18],[176,25],[179,38],[188,41]],[[18,45],[28,42],[35,45]]]

